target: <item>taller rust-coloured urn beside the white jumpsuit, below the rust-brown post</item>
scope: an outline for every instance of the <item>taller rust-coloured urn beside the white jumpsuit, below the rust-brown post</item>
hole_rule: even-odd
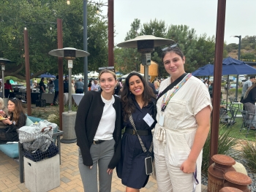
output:
[[[233,165],[236,161],[227,155],[213,155],[211,157],[214,164],[208,168],[208,192],[219,192],[224,187],[224,174],[226,172],[236,172]]]

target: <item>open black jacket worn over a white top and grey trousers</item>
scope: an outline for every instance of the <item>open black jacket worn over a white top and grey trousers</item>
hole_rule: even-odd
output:
[[[94,140],[99,121],[102,118],[102,112],[105,103],[101,99],[100,91],[88,91],[83,96],[78,106],[78,112],[75,119],[75,134],[77,136],[77,145],[83,157],[83,164],[92,166],[90,147]],[[115,96],[113,107],[116,110],[116,123],[113,132],[113,139],[116,141],[115,153],[108,165],[109,169],[114,169],[121,158],[121,128],[123,119],[121,118],[121,101]]]

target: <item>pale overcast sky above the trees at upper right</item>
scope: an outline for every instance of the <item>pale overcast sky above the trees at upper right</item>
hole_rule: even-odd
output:
[[[108,3],[108,0],[102,0]],[[102,2],[101,1],[101,2]],[[197,36],[216,35],[218,0],[114,0],[115,45],[124,42],[135,18],[140,23],[164,20],[170,26],[187,25],[195,28]],[[107,7],[102,7],[107,14]],[[256,0],[227,0],[225,42],[238,44],[232,35],[256,35]]]

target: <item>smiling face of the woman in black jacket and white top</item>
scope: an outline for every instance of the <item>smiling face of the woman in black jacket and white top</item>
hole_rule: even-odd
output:
[[[116,86],[116,79],[113,74],[104,72],[99,77],[99,85],[102,88],[102,92],[113,94],[113,91]]]

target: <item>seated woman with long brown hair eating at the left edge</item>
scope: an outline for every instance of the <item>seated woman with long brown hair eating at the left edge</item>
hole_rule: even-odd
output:
[[[6,120],[2,120],[7,128],[0,128],[0,142],[18,142],[17,129],[26,125],[25,111],[19,99],[10,99],[8,101],[8,111],[0,111],[0,115]],[[10,115],[10,117],[8,117]]]

